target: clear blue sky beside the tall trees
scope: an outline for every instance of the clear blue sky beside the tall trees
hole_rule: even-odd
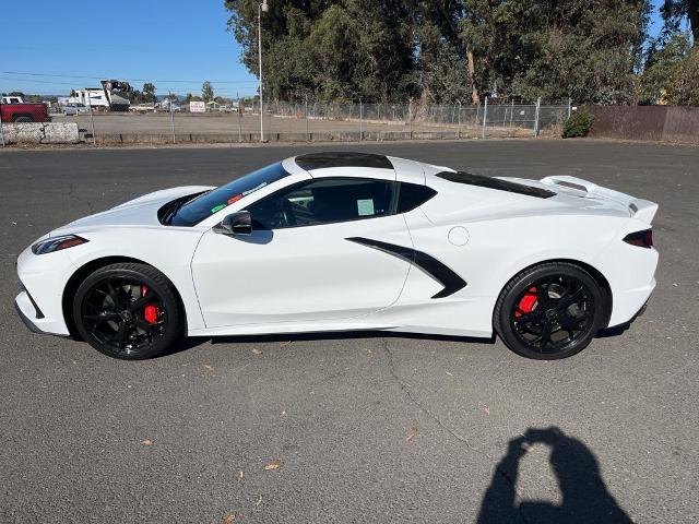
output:
[[[662,26],[662,1],[653,0],[651,35]],[[216,95],[257,93],[257,76],[240,63],[240,47],[226,31],[223,0],[3,3],[1,93],[67,95],[106,79],[138,90],[153,82],[158,95],[200,94],[205,80]]]

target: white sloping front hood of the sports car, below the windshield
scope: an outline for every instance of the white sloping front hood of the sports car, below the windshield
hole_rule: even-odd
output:
[[[157,211],[167,202],[214,189],[212,186],[183,186],[164,189],[130,200],[110,210],[85,216],[52,231],[51,235],[105,226],[161,226]]]

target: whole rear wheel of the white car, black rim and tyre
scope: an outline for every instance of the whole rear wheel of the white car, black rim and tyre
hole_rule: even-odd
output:
[[[602,326],[605,308],[600,286],[587,271],[550,262],[523,271],[505,286],[494,325],[514,353],[553,360],[583,350]]]

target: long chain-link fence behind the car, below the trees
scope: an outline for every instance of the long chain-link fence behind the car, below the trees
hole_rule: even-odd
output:
[[[488,139],[555,133],[570,115],[560,105],[322,104],[265,103],[132,105],[128,111],[102,107],[52,108],[52,122],[76,122],[81,138],[97,144],[234,143]]]

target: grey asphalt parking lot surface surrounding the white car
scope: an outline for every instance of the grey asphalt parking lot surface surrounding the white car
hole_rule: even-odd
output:
[[[16,254],[47,230],[329,148],[483,175],[573,175],[659,202],[645,314],[562,361],[526,360],[499,341],[341,333],[193,340],[125,362],[31,334],[14,313]],[[0,522],[699,520],[699,148],[7,151],[0,194]],[[523,434],[537,443],[523,450]]]

